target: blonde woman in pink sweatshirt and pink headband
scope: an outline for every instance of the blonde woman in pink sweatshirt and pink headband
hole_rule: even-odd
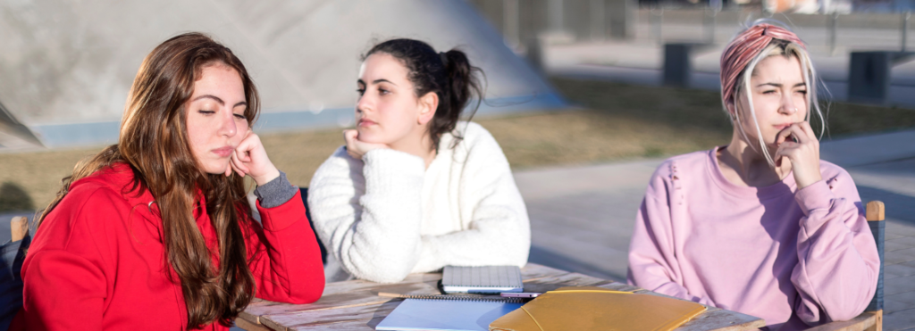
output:
[[[879,258],[851,176],[820,160],[815,71],[790,31],[757,24],[721,56],[730,144],[651,176],[629,282],[795,330],[864,311]],[[824,127],[825,125],[823,125]]]

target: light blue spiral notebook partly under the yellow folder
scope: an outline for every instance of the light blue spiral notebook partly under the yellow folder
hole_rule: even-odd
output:
[[[447,295],[405,299],[375,330],[488,331],[490,323],[522,306],[518,298]]]

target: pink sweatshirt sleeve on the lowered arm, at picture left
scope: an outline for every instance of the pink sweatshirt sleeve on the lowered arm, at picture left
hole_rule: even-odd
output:
[[[667,176],[661,174],[662,169],[666,168],[667,166],[660,166],[658,172],[651,176],[645,198],[636,215],[630,241],[628,281],[630,285],[638,283],[638,286],[653,292],[715,306],[708,297],[690,294],[680,285],[683,283],[683,275],[674,253],[668,195],[673,183],[665,180]]]

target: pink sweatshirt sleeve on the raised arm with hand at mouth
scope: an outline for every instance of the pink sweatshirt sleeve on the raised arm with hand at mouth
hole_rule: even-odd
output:
[[[811,325],[861,314],[877,290],[880,258],[855,183],[842,171],[795,198],[804,212],[791,272],[795,314]]]

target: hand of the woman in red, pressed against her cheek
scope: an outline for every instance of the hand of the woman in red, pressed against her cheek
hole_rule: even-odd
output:
[[[242,143],[238,144],[238,147],[235,147],[235,151],[232,152],[226,176],[231,175],[232,170],[239,176],[251,176],[258,186],[267,184],[280,176],[279,170],[267,157],[264,144],[261,144],[261,138],[250,129],[245,133]]]

